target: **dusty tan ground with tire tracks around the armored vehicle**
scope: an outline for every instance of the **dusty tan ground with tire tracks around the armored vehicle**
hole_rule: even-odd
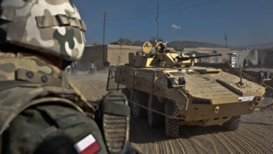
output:
[[[96,102],[106,94],[107,76],[107,71],[92,76],[79,72],[69,80],[88,100]],[[221,126],[185,126],[180,128],[179,139],[167,139],[163,127],[151,129],[145,118],[132,118],[130,141],[142,153],[273,153],[272,116],[273,106],[241,116],[235,132],[225,132]]]

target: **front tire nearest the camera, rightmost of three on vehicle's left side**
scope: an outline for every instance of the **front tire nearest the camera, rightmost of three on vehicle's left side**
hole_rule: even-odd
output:
[[[165,103],[165,113],[174,116],[176,104],[174,102]],[[169,138],[179,137],[179,120],[165,117],[165,134]]]

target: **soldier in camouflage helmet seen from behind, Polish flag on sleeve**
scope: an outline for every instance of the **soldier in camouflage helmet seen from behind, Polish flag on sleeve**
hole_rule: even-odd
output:
[[[126,97],[106,94],[101,131],[94,107],[64,75],[85,47],[85,23],[73,2],[0,5],[0,153],[137,152],[128,146]]]

